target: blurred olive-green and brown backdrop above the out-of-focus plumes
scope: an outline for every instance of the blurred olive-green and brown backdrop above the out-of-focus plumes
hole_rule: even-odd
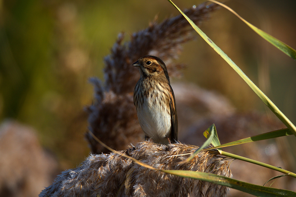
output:
[[[174,1],[181,9],[202,2]],[[226,5],[296,48],[294,0],[232,0]],[[165,0],[0,0],[0,121],[17,120],[35,129],[41,146],[57,159],[59,171],[76,167],[90,152],[84,108],[91,105],[94,91],[88,79],[103,79],[103,57],[117,35],[125,32],[128,41],[156,15],[161,22],[178,14]],[[295,124],[296,62],[224,8],[200,28]],[[241,112],[270,113],[199,36],[183,45],[177,62],[187,68],[173,82],[218,92]]]

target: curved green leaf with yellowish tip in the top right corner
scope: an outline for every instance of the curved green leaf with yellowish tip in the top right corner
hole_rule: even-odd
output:
[[[227,10],[229,10],[230,12],[232,12],[233,14],[235,14],[240,20],[242,20],[244,23],[246,23],[251,29],[254,30],[254,32],[256,32],[258,35],[260,35],[262,38],[264,38],[265,40],[267,40],[270,44],[272,44],[273,46],[275,46],[276,48],[278,48],[279,50],[281,50],[283,53],[285,53],[287,56],[293,58],[294,60],[296,60],[296,51],[295,49],[293,49],[292,47],[290,47],[288,44],[283,43],[282,41],[276,39],[275,37],[273,37],[272,35],[269,35],[268,33],[262,31],[261,29],[255,27],[254,25],[252,25],[251,23],[249,23],[248,21],[246,21],[245,19],[243,19],[241,16],[239,16],[233,9],[229,8],[228,6],[217,2],[215,0],[208,0],[210,2],[214,2],[224,8],[226,8]]]

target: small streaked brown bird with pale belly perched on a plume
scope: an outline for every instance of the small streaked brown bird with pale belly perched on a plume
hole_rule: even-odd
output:
[[[141,57],[133,64],[140,79],[134,89],[134,105],[147,138],[154,143],[176,143],[178,120],[176,102],[165,63],[155,56]]]

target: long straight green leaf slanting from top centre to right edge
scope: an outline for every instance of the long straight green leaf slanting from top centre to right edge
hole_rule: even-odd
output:
[[[258,95],[258,97],[276,114],[276,116],[290,129],[296,136],[296,127],[294,124],[283,114],[276,105],[245,75],[245,73],[213,42],[202,30],[200,30],[186,14],[184,14],[171,0],[168,0],[190,23],[197,33],[242,77],[243,80],[251,87],[251,89]]]

